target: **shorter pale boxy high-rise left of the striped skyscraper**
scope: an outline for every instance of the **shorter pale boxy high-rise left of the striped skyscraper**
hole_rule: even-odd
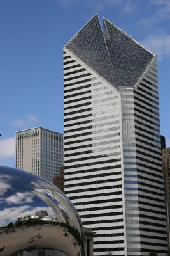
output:
[[[63,161],[62,134],[42,127],[16,132],[16,168],[52,182]]]

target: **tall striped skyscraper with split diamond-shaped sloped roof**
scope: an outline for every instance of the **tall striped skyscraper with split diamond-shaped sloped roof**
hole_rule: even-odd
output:
[[[97,15],[64,46],[64,165],[94,255],[167,253],[156,56]]]

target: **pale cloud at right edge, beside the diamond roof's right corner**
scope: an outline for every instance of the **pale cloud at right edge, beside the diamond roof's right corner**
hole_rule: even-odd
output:
[[[152,49],[159,60],[164,56],[170,57],[170,35],[149,35],[143,40],[143,45]]]

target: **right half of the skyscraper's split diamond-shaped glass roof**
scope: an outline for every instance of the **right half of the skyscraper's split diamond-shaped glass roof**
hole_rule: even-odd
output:
[[[117,86],[134,86],[154,55],[107,19],[104,19],[104,35]]]

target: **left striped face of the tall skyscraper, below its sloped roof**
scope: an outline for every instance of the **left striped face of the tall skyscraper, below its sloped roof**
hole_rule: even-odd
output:
[[[120,118],[118,93],[65,52],[65,193],[97,233],[94,255],[124,253]]]

